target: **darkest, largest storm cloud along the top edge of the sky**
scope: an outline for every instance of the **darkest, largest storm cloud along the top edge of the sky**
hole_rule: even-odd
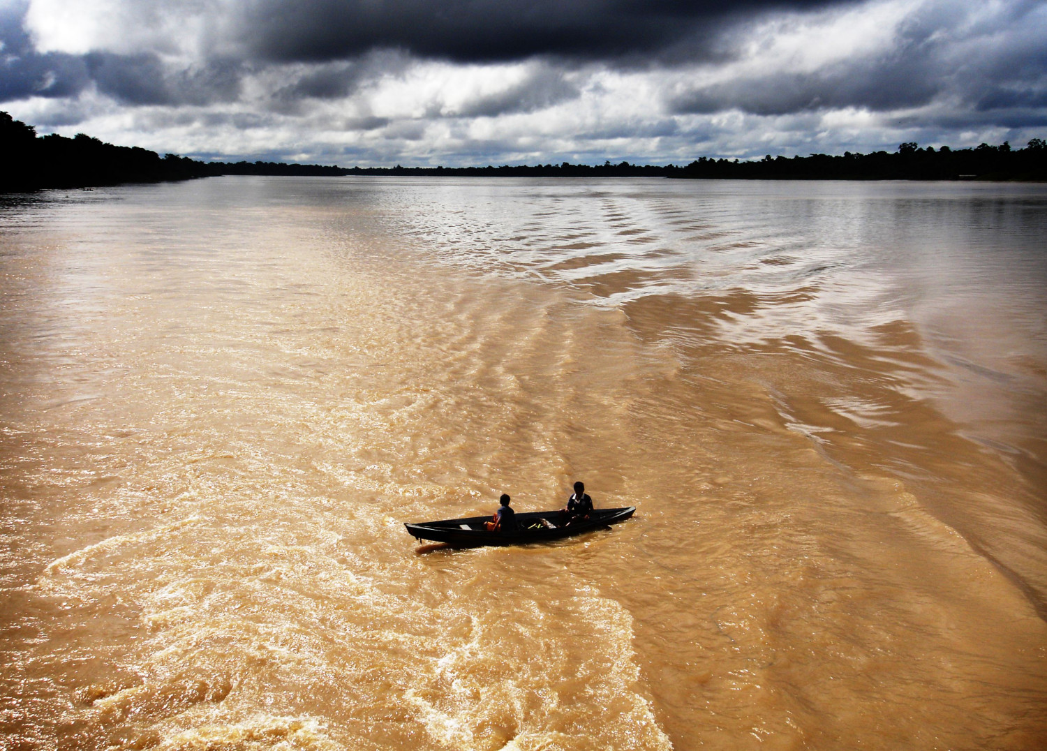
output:
[[[279,62],[352,58],[397,48],[420,58],[495,62],[547,56],[650,56],[688,40],[700,53],[742,16],[850,0],[260,0],[240,29],[254,54]]]

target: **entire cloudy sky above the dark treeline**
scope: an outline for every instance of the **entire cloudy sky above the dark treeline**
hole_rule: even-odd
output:
[[[38,132],[198,158],[686,163],[1047,137],[1044,0],[0,0],[0,110]]]

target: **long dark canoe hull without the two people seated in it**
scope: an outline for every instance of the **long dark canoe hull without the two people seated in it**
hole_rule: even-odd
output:
[[[559,526],[559,511],[532,511],[517,513],[518,532],[488,532],[484,523],[490,522],[490,516],[469,516],[467,518],[447,518],[441,522],[424,522],[422,524],[405,524],[407,531],[419,539],[429,539],[433,543],[447,543],[458,547],[475,547],[480,545],[521,545],[525,543],[547,543],[562,537],[571,537],[595,529],[603,529],[607,525],[624,522],[636,506],[626,508],[601,508],[593,511],[587,520],[573,522],[566,527]],[[554,525],[554,529],[539,527],[527,529],[529,526],[545,520]]]

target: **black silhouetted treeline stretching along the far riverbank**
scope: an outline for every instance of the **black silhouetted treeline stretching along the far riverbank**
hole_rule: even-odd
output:
[[[124,182],[188,180],[219,175],[405,176],[405,177],[671,177],[756,180],[1021,180],[1047,181],[1047,142],[1033,138],[1024,149],[981,143],[973,149],[943,146],[842,156],[772,157],[758,161],[699,157],[675,164],[527,164],[502,167],[329,167],[271,161],[198,161],[177,154],[161,157],[138,147],[105,143],[84,133],[72,138],[38,136],[36,128],[0,112],[0,193],[48,187],[91,187]]]

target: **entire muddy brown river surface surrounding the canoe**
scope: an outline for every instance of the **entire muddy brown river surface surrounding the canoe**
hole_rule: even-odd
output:
[[[0,747],[1047,747],[1047,186],[0,198]],[[425,546],[405,521],[611,530]]]

